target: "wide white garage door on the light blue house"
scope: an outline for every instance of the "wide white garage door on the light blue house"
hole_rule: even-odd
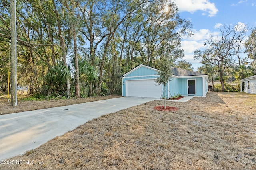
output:
[[[127,80],[126,96],[160,98],[162,85],[158,85],[155,80]]]

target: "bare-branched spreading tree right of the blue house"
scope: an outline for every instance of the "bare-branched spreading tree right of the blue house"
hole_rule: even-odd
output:
[[[245,25],[224,25],[220,28],[220,36],[210,35],[206,39],[205,50],[196,50],[194,59],[202,59],[202,64],[210,64],[216,68],[224,91],[226,75],[235,66],[236,58],[239,59],[239,49],[248,27]]]

